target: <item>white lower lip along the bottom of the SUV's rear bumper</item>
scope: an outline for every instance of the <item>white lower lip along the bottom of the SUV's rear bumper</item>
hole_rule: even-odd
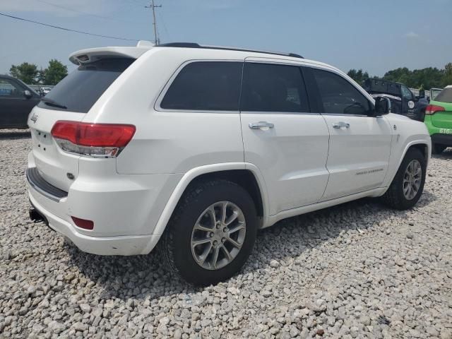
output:
[[[91,237],[81,234],[70,222],[46,210],[40,203],[40,199],[35,197],[36,194],[40,193],[30,186],[28,196],[32,206],[47,219],[48,225],[52,230],[68,237],[81,251],[102,256],[148,254],[160,239],[160,236],[153,234],[120,237]],[[42,198],[45,197],[42,196]]]

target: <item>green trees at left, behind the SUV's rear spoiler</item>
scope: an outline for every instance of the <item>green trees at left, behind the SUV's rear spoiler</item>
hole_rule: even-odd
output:
[[[68,68],[57,59],[52,59],[45,69],[37,69],[37,65],[23,62],[17,66],[12,65],[9,73],[28,85],[57,85],[68,75]]]

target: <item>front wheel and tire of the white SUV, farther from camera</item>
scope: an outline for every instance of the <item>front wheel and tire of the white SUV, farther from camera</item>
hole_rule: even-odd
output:
[[[391,186],[381,197],[383,203],[397,210],[407,210],[415,206],[424,190],[426,169],[427,162],[422,152],[417,148],[410,148]]]

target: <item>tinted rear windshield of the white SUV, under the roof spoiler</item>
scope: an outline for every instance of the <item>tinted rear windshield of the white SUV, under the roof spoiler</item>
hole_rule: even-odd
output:
[[[37,106],[87,113],[102,93],[133,61],[134,59],[102,59],[81,65],[45,96],[58,105],[49,105],[41,101]],[[61,106],[67,108],[62,109]]]

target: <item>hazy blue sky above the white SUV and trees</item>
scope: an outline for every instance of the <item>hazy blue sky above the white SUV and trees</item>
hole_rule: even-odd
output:
[[[0,13],[132,40],[153,40],[150,0],[0,0]],[[155,0],[161,42],[301,54],[383,76],[452,62],[452,0]],[[0,73],[24,61],[73,66],[78,49],[133,46],[0,16]]]

